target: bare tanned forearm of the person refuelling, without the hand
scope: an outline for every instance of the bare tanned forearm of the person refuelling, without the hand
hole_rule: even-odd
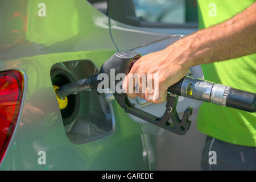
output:
[[[183,47],[187,59],[180,61],[188,68],[255,53],[256,3],[233,18],[197,31],[175,44],[167,49],[175,51],[176,46]]]

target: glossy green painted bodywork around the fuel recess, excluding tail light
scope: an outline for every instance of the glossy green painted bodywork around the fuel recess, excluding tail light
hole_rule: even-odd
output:
[[[46,5],[46,16],[39,16],[40,3]],[[155,140],[163,130],[132,121],[115,101],[113,134],[84,144],[73,144],[65,135],[51,67],[63,61],[91,60],[100,68],[117,51],[108,16],[85,0],[10,0],[0,2],[0,24],[5,25],[0,27],[0,72],[19,69],[26,77],[22,110],[1,170],[154,169]],[[115,20],[110,28],[119,49],[136,48],[180,31]],[[39,165],[39,151],[46,152],[46,165]]]

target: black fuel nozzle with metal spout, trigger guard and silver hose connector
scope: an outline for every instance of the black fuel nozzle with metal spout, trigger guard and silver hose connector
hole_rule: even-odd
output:
[[[141,57],[141,55],[134,51],[115,52],[113,56],[105,61],[100,72],[96,75],[89,76],[88,78],[84,78],[76,82],[70,82],[60,88],[55,87],[60,109],[65,108],[65,100],[70,94],[76,94],[90,89],[97,90],[98,84],[101,82],[101,79],[98,79],[98,76],[101,73],[105,73],[109,78],[108,85],[106,85],[107,88],[101,89],[110,88],[115,100],[126,113],[132,114],[135,117],[141,118],[144,121],[150,122],[153,125],[162,127],[163,129],[179,135],[184,135],[188,131],[191,123],[191,121],[189,121],[189,116],[192,114],[192,107],[188,106],[187,109],[184,110],[183,118],[179,118],[176,110],[179,96],[204,102],[212,102],[213,104],[233,107],[235,109],[249,112],[255,112],[256,110],[255,93],[233,89],[226,85],[214,84],[210,81],[193,79],[189,76],[183,77],[179,82],[167,89],[166,111],[161,118],[138,109],[129,101],[127,94],[115,93],[115,90],[112,90],[119,81],[111,81],[111,69],[114,69],[115,74],[123,73],[127,75],[139,57]],[[172,121],[172,124],[170,121]]]

